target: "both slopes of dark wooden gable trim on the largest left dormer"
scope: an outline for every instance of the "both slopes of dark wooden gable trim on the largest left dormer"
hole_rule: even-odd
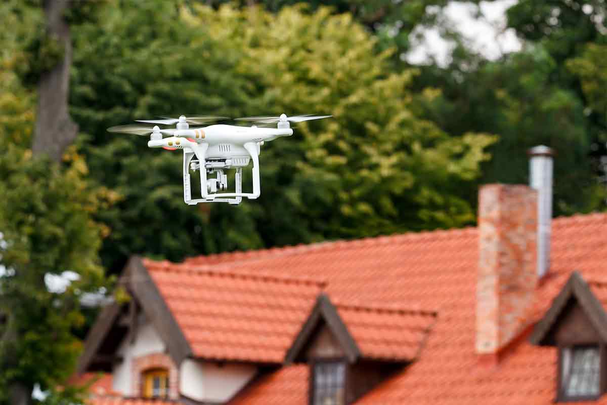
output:
[[[140,310],[154,325],[177,366],[181,364],[183,359],[192,356],[192,349],[188,341],[160,295],[160,291],[158,291],[148,270],[143,265],[141,257],[134,256],[129,259],[118,284],[126,288],[132,295],[129,312],[126,317],[121,316],[123,305],[126,304],[117,302],[103,308],[84,342],[84,352],[78,362],[78,373],[87,371],[95,357],[100,354],[98,351],[101,344],[109,335],[112,327],[116,327],[121,321],[124,322],[125,318],[128,319],[129,324],[129,334],[127,336],[131,341],[134,339],[137,328],[137,313]]]

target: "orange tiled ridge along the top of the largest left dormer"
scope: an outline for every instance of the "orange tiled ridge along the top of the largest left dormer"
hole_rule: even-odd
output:
[[[152,268],[148,264],[152,264]],[[273,281],[282,282],[284,284],[304,284],[304,285],[317,285],[320,289],[327,286],[327,281],[313,279],[311,277],[293,277],[293,276],[281,276],[274,273],[254,273],[251,271],[237,270],[227,267],[224,264],[219,265],[193,265],[182,263],[172,263],[168,260],[162,260],[157,262],[155,260],[144,259],[144,265],[151,271],[172,271],[176,273],[195,273],[195,274],[207,274],[209,276],[232,276],[240,279],[253,279],[260,281]]]

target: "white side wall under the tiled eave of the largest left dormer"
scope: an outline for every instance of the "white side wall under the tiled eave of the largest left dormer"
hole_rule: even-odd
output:
[[[255,376],[257,367],[185,359],[181,362],[179,386],[182,395],[200,402],[228,401]]]

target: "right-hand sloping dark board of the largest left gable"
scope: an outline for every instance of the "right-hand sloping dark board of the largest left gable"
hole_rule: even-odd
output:
[[[146,318],[152,322],[158,335],[166,343],[169,355],[179,366],[183,359],[193,355],[188,340],[158,291],[148,269],[143,265],[141,257],[131,257],[127,266],[132,271],[129,280],[132,293],[137,297]]]

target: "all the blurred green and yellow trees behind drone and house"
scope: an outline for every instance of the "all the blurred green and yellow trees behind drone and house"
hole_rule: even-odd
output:
[[[558,154],[555,214],[605,209],[603,0],[518,1],[507,24],[522,48],[492,60],[440,17],[448,0],[70,4],[68,105],[79,129],[63,155],[49,151],[59,162],[31,149],[41,80],[66,46],[45,28],[42,1],[0,4],[11,27],[0,36],[0,269],[12,269],[0,273],[0,336],[20,300],[37,303],[21,330],[57,299],[70,314],[49,316],[18,349],[0,342],[0,364],[13,367],[0,392],[10,379],[46,389],[69,373],[87,325],[74,302],[131,254],[181,260],[473,225],[478,185],[526,183],[526,149],[540,143]],[[402,57],[422,26],[455,45],[446,61]],[[185,205],[180,152],[106,132],[156,115],[282,112],[334,118],[263,146],[262,196],[237,207]],[[64,271],[80,279],[63,292],[41,282]],[[18,287],[33,279],[35,290]],[[36,340],[49,322],[63,325],[47,354],[64,354],[56,373],[3,355],[49,344]]]

